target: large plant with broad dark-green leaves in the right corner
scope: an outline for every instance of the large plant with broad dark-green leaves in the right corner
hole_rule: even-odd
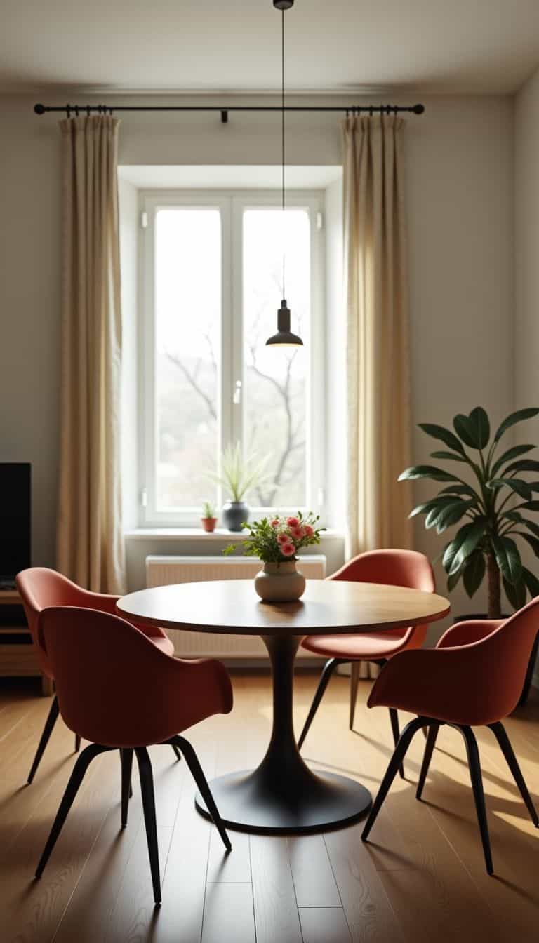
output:
[[[539,408],[535,407],[511,413],[498,426],[492,441],[489,418],[481,406],[472,409],[469,416],[455,416],[455,433],[441,425],[421,422],[419,428],[423,432],[441,440],[450,450],[432,452],[431,457],[462,463],[471,472],[471,483],[430,465],[407,469],[398,479],[448,482],[430,501],[414,507],[410,517],[424,514],[425,526],[435,527],[438,534],[465,519],[442,554],[447,589],[453,589],[462,578],[471,598],[486,572],[489,619],[501,617],[500,577],[515,609],[525,604],[528,592],[531,598],[539,595],[539,580],[523,565],[514,541],[525,540],[539,557],[539,525],[525,516],[539,511],[539,501],[533,499],[533,493],[539,491],[539,481],[522,476],[539,472],[539,461],[522,457],[536,446],[514,445],[497,455],[499,440],[507,430],[537,414]],[[475,454],[469,455],[464,446]]]

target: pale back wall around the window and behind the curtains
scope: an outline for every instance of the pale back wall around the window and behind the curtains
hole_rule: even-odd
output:
[[[426,114],[411,116],[407,132],[413,415],[417,422],[449,422],[457,410],[480,403],[497,418],[513,405],[512,100],[424,101]],[[6,361],[0,371],[0,460],[33,463],[34,562],[50,564],[59,434],[59,141],[55,116],[37,118],[32,104],[0,99]],[[211,114],[127,114],[119,160],[278,163],[278,124],[277,113],[231,113],[227,125]],[[287,125],[290,163],[341,162],[338,115],[297,115]],[[428,452],[425,438],[417,436],[416,458]],[[439,547],[420,527],[417,543],[431,555]],[[455,608],[469,611],[469,604],[457,594]]]

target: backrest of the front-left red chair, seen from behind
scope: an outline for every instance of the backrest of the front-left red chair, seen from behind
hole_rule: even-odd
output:
[[[38,640],[56,681],[63,720],[107,746],[144,746],[173,736],[175,659],[124,619],[94,609],[43,609]]]

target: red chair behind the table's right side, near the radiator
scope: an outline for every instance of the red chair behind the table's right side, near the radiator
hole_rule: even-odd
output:
[[[354,556],[344,567],[328,576],[330,580],[347,580],[354,583],[382,583],[389,586],[422,589],[434,592],[436,586],[430,561],[424,554],[413,550],[373,550]],[[297,742],[299,749],[308,734],[318,705],[328,687],[328,681],[338,665],[352,664],[350,679],[350,730],[354,723],[360,661],[371,661],[385,665],[388,658],[404,649],[420,648],[425,641],[428,625],[412,625],[404,629],[388,629],[384,632],[364,632],[343,636],[310,636],[302,642],[308,652],[324,655],[329,660],[324,666],[316,693],[312,699],[307,720]],[[395,743],[398,740],[398,717],[393,708],[389,712]],[[400,769],[404,776],[404,770]]]

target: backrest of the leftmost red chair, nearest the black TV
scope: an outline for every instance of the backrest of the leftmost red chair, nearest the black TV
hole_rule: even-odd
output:
[[[32,638],[38,648],[44,674],[53,678],[49,659],[38,644],[38,619],[42,609],[49,605],[77,605],[79,587],[56,570],[47,567],[30,567],[17,573],[17,588],[23,600],[25,617]]]

